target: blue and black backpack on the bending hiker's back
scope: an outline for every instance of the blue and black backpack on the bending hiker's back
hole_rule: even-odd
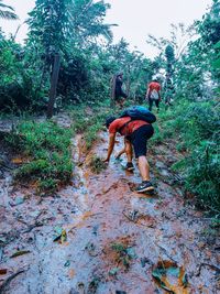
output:
[[[132,120],[143,120],[148,123],[153,123],[156,121],[156,117],[145,107],[143,106],[132,106],[127,108],[119,118],[130,117],[131,120],[124,123],[119,132],[122,131],[124,127],[127,127]]]

